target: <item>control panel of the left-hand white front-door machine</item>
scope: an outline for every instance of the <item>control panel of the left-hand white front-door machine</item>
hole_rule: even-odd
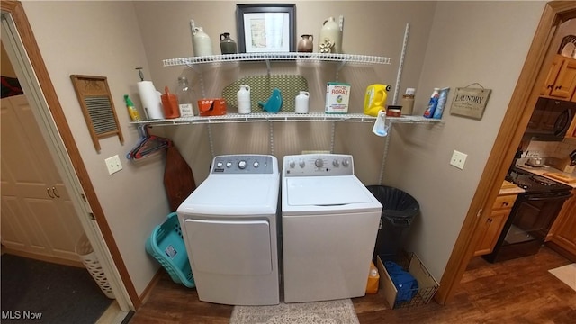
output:
[[[274,172],[273,157],[257,154],[214,157],[211,165],[211,173],[220,175],[269,175]]]

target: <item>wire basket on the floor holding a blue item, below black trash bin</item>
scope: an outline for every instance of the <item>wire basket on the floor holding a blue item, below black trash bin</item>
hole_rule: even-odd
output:
[[[418,288],[403,291],[401,293],[402,298],[399,298],[399,292],[392,283],[392,279],[383,265],[383,260],[378,257],[377,261],[378,271],[381,274],[380,280],[383,281],[381,287],[383,287],[386,300],[392,309],[408,308],[427,304],[436,294],[439,284],[436,279],[430,275],[426,266],[424,266],[415,253],[398,256],[392,260],[401,266],[404,271],[408,271],[410,275],[414,276],[418,281]],[[405,297],[407,295],[411,296],[409,301],[406,301]]]

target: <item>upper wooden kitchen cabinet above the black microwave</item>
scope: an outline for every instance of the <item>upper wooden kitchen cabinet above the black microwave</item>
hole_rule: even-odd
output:
[[[556,55],[545,84],[540,89],[540,95],[573,101],[576,98],[574,89],[576,89],[576,59]]]

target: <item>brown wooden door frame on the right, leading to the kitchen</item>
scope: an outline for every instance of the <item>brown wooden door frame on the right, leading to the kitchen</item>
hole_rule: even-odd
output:
[[[560,45],[558,40],[554,40],[557,28],[564,21],[574,17],[576,17],[576,2],[574,1],[552,1],[545,4],[544,13],[528,50],[498,137],[440,280],[440,287],[435,296],[440,304],[445,304],[454,297],[466,266],[473,257],[476,243],[480,238],[480,232],[477,229],[482,218],[482,211],[490,211],[500,191],[502,180],[508,172],[534,111],[540,93],[538,85],[544,84],[548,72],[545,68],[552,63],[555,49]]]

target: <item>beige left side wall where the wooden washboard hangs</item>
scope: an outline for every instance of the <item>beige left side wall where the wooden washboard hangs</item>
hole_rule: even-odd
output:
[[[135,164],[126,153],[138,142],[129,125],[123,94],[137,94],[134,67],[148,68],[131,2],[23,2],[32,31],[106,220],[137,293],[142,293],[158,265],[144,243],[167,214],[164,161]],[[120,120],[118,137],[101,139],[97,153],[90,139],[70,75],[106,76]],[[108,175],[104,158],[121,157],[121,172]]]

